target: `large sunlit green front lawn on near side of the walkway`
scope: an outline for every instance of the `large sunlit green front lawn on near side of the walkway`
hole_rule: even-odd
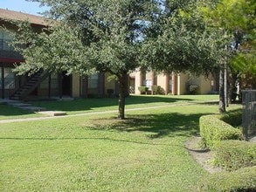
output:
[[[191,191],[208,173],[184,143],[210,113],[218,105],[0,124],[0,191]]]

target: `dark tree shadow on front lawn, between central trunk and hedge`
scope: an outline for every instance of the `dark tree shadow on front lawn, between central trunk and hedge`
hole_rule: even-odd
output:
[[[129,116],[126,120],[113,120],[111,123],[102,125],[94,122],[92,129],[114,129],[121,132],[147,132],[150,139],[163,137],[185,136],[199,134],[199,118],[205,113],[183,114],[183,113],[163,113]]]

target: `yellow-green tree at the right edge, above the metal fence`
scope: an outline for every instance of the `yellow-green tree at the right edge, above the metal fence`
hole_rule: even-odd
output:
[[[211,1],[202,8],[207,21],[213,27],[221,29],[225,37],[222,48],[226,52],[223,62],[226,67],[220,69],[231,73],[228,79],[229,100],[231,100],[236,79],[241,74],[250,73],[255,77],[253,70],[255,67],[255,57],[253,57],[255,55],[255,7],[254,0],[218,0]],[[220,84],[224,84],[222,79]],[[221,90],[226,89],[225,87]],[[220,92],[220,94],[219,109],[225,112],[225,106],[223,106],[225,101],[222,99],[226,98],[228,93]]]

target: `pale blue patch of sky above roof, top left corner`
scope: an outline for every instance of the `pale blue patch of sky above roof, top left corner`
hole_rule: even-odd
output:
[[[40,15],[39,12],[46,10],[45,7],[40,7],[39,5],[39,3],[25,0],[0,0],[1,9],[16,10],[32,15]]]

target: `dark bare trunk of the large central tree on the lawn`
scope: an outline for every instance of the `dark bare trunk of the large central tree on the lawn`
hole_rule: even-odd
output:
[[[118,77],[119,80],[119,102],[118,102],[118,117],[121,120],[125,119],[125,113],[124,113],[124,109],[125,109],[125,97],[127,95],[127,91],[128,91],[128,74],[126,72],[122,72],[122,74]]]

